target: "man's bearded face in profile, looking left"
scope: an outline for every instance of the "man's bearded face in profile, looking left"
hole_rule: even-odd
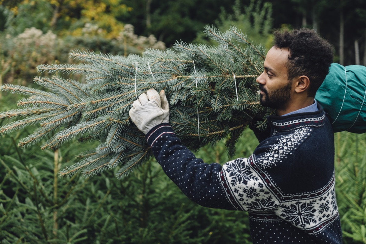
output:
[[[279,109],[290,100],[292,82],[288,81],[285,66],[290,52],[287,49],[272,47],[264,60],[264,71],[257,78],[261,90],[261,104]]]

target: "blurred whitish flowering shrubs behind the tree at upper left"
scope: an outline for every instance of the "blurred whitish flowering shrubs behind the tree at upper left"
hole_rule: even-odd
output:
[[[117,39],[107,39],[97,25],[86,23],[79,37],[58,37],[31,27],[19,35],[0,34],[0,83],[26,85],[33,81],[40,64],[72,63],[68,53],[74,49],[113,55],[141,54],[146,48],[165,49],[164,42],[134,34],[126,24]]]

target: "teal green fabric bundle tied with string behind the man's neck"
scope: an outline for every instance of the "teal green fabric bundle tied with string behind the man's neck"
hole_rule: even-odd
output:
[[[333,63],[315,99],[328,113],[333,131],[366,132],[366,67]]]

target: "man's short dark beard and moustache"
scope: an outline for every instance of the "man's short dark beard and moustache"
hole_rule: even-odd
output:
[[[288,82],[286,86],[268,92],[262,84],[259,84],[259,90],[264,92],[264,95],[261,94],[261,104],[273,109],[280,108],[290,99],[291,86],[292,83]]]

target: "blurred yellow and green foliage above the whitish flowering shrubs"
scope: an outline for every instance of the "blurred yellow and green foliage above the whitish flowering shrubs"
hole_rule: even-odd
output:
[[[131,8],[122,0],[22,0],[8,3],[7,28],[20,34],[26,28],[82,35],[86,24],[96,26],[94,35],[115,38],[123,30],[118,19]],[[33,14],[30,15],[29,12]]]

